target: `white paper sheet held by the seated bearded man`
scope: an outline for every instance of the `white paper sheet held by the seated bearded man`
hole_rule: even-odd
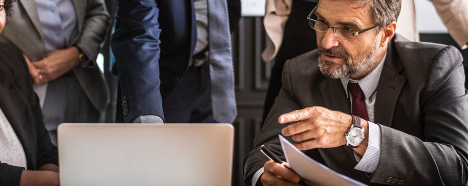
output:
[[[316,162],[294,147],[286,138],[281,135],[278,136],[289,168],[304,181],[312,185],[366,185]]]

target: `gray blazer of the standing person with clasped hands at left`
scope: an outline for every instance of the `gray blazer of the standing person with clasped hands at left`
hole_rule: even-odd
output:
[[[110,16],[103,0],[73,0],[73,5],[78,33],[70,46],[80,43],[92,59],[89,67],[76,67],[73,72],[93,105],[102,112],[109,104],[110,93],[96,57],[107,34]],[[17,46],[31,61],[43,59],[45,42],[36,4],[33,0],[18,0],[12,10],[0,41]]]

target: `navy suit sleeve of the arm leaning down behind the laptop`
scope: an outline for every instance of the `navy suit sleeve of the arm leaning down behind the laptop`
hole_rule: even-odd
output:
[[[118,65],[125,122],[141,115],[164,119],[160,92],[161,29],[154,0],[119,0],[111,47]],[[124,107],[125,107],[124,106]],[[127,112],[125,112],[127,110]]]

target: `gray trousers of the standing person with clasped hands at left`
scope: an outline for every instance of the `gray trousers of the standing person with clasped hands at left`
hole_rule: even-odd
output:
[[[73,73],[49,82],[42,115],[54,145],[57,145],[57,126],[61,123],[104,122],[104,115],[91,103]]]

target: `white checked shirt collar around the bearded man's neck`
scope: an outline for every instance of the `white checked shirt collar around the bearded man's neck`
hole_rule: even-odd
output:
[[[362,79],[355,80],[351,78],[339,78],[339,80],[341,80],[341,83],[343,84],[343,88],[345,88],[346,97],[349,97],[347,88],[348,83],[353,82],[359,84],[359,87],[363,90],[366,99],[369,99],[372,93],[374,93],[375,89],[377,89],[380,74],[382,73],[382,69],[384,69],[384,62],[386,58],[387,52],[385,52],[384,58],[382,58],[382,61],[380,61],[377,67],[369,75]]]

